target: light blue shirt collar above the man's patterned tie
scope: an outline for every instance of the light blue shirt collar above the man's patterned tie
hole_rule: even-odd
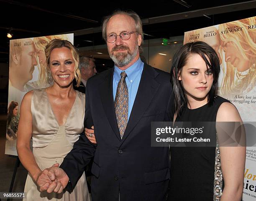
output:
[[[125,69],[125,73],[127,74],[127,78],[130,82],[133,82],[136,76],[138,76],[141,68],[143,68],[143,62],[139,58],[133,65],[128,67],[128,69]],[[117,66],[114,66],[114,79],[116,82],[119,82],[121,79],[121,72],[123,71],[120,70]]]

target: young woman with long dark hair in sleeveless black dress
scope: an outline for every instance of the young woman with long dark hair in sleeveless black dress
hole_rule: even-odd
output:
[[[242,123],[236,107],[215,94],[219,72],[218,55],[207,43],[179,48],[171,69],[174,121]],[[241,201],[245,158],[245,146],[222,147],[218,140],[215,147],[171,147],[168,200]]]

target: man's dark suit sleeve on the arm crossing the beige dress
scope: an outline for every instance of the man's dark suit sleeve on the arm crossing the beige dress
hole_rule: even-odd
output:
[[[91,108],[90,108],[90,85],[86,87],[86,99],[85,99],[85,116],[84,126],[91,128],[93,125]],[[92,144],[84,134],[84,131],[80,134],[77,142],[74,143],[73,149],[67,154],[63,162],[60,165],[69,177],[69,183],[66,190],[72,192],[77,181],[82,176],[84,168],[90,163],[91,158],[94,156],[96,145]]]

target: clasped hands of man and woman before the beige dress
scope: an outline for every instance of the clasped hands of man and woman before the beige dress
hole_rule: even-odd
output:
[[[67,174],[59,168],[59,164],[56,163],[51,168],[46,168],[39,173],[35,181],[40,187],[40,191],[47,191],[47,193],[62,193],[63,189],[69,182]]]

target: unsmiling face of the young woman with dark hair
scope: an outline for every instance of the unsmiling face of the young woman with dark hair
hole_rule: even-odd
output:
[[[178,79],[182,82],[188,100],[191,98],[199,101],[207,100],[207,94],[213,83],[213,75],[199,54],[191,54],[188,57],[187,64],[183,66]]]

